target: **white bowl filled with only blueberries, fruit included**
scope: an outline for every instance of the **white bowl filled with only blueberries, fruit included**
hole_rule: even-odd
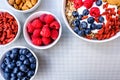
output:
[[[32,80],[38,70],[35,53],[23,46],[8,49],[0,61],[0,73],[5,80]]]

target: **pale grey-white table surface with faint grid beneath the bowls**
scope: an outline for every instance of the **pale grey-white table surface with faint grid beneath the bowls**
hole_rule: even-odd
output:
[[[72,34],[66,27],[61,14],[62,0],[42,0],[36,11],[44,10],[54,13],[61,21],[63,33],[59,42],[47,50],[37,50],[29,46],[23,32],[11,46],[26,46],[32,49],[39,58],[39,69],[33,80],[120,80],[120,38],[107,43],[88,43]],[[12,11],[5,0],[0,0],[0,9],[6,9],[16,15],[23,24],[32,14]],[[36,12],[34,11],[34,12]],[[0,77],[0,80],[1,79]]]

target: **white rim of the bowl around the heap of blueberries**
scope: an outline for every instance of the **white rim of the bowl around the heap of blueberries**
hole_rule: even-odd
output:
[[[14,46],[14,47],[12,47],[12,48],[9,48],[7,51],[3,52],[2,56],[1,56],[1,59],[0,59],[0,65],[2,64],[2,61],[3,61],[3,59],[5,58],[6,53],[7,53],[8,51],[14,49],[14,48],[27,48],[27,47],[24,47],[24,46]],[[34,56],[35,59],[36,59],[36,69],[35,69],[35,73],[34,73],[34,75],[30,78],[30,80],[33,80],[33,78],[35,77],[35,75],[36,75],[36,73],[37,73],[37,71],[38,71],[38,58],[37,58],[37,56],[35,55],[35,53],[34,53],[31,49],[29,49],[29,48],[27,48],[27,49],[33,54],[33,56]],[[4,79],[3,71],[1,70],[1,67],[0,67],[0,75],[1,75],[2,78]]]

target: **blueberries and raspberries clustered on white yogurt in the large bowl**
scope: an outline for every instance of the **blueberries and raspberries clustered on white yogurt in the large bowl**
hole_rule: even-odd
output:
[[[73,30],[79,36],[86,37],[93,30],[100,30],[103,27],[104,17],[101,16],[99,8],[93,6],[93,3],[98,7],[102,5],[101,0],[74,0],[76,9],[85,7],[82,14],[77,10],[72,12],[72,16],[75,18],[72,22]]]

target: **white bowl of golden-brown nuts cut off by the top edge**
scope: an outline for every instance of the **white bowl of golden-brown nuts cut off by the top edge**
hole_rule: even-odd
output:
[[[28,13],[34,11],[41,0],[5,0],[8,6],[17,12]]]

